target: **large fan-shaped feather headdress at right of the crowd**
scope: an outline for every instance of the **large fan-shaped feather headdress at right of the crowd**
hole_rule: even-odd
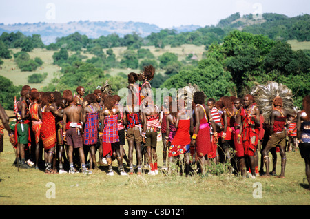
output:
[[[282,99],[282,107],[285,110],[289,112],[294,111],[293,94],[286,85],[281,83],[269,81],[265,85],[256,85],[252,88],[250,94],[254,96],[258,109],[267,121],[269,121],[271,113],[273,112],[273,101],[276,97],[280,97]]]

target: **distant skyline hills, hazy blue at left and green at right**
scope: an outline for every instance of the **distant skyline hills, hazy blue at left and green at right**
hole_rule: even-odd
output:
[[[200,27],[198,25],[181,25],[173,27],[176,33],[195,32],[207,28],[220,28],[222,30],[242,30],[252,34],[264,34],[271,39],[284,39],[298,41],[310,41],[310,16],[302,14],[297,17],[287,17],[283,14],[266,13],[260,16],[247,14],[243,17],[240,13],[231,14],[231,16],[221,19],[216,26]],[[3,32],[21,32],[25,36],[39,34],[45,45],[55,43],[57,38],[68,36],[79,32],[90,39],[98,39],[100,36],[117,34],[125,36],[135,32],[141,37],[149,36],[152,33],[158,33],[163,30],[157,25],[141,22],[119,22],[119,21],[74,21],[69,23],[16,23],[13,25],[4,25],[0,23],[0,35]]]

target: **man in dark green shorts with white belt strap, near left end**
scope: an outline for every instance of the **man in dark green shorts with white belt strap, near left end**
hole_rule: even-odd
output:
[[[17,148],[17,165],[21,168],[30,168],[25,163],[25,147],[30,145],[30,114],[28,110],[27,102],[30,98],[30,90],[21,90],[21,100],[17,102],[17,112],[15,118],[17,123],[15,125],[15,145]],[[19,158],[21,163],[19,163]]]

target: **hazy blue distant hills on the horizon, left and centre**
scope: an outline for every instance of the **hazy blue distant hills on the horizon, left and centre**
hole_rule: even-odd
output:
[[[190,32],[200,28],[197,25],[182,25],[175,27],[177,32]],[[88,38],[97,39],[100,36],[108,34],[132,34],[136,32],[141,37],[148,36],[152,32],[160,32],[161,28],[157,25],[140,22],[118,22],[118,21],[78,21],[69,23],[17,23],[13,25],[4,25],[0,23],[0,35],[3,32],[21,32],[26,36],[32,34],[40,34],[45,45],[55,43],[56,38],[68,36],[74,32],[79,32],[81,35],[86,35]]]

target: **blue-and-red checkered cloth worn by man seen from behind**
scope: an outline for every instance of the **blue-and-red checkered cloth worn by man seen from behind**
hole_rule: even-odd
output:
[[[87,113],[84,127],[84,145],[94,145],[98,139],[98,112]]]

